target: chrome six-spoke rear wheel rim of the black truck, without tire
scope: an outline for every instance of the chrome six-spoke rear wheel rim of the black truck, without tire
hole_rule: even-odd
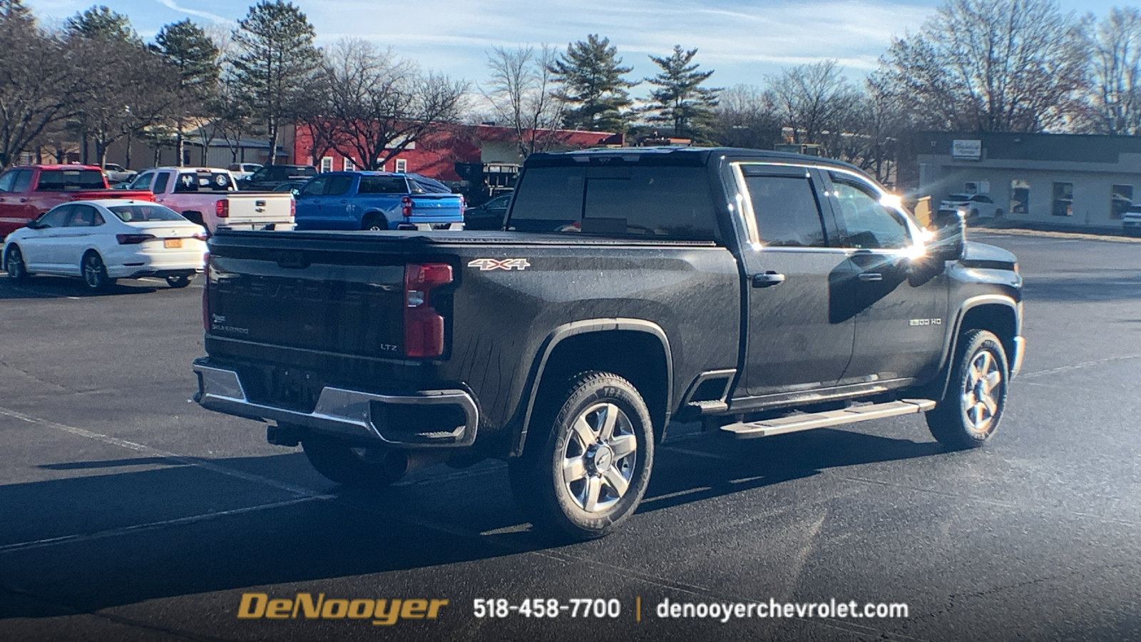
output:
[[[630,417],[614,403],[597,403],[574,422],[563,450],[563,483],[580,508],[600,513],[626,493],[637,463]]]

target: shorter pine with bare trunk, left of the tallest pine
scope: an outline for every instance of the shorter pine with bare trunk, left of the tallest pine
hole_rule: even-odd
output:
[[[164,25],[154,37],[152,49],[178,70],[178,110],[176,143],[178,164],[184,161],[183,127],[187,115],[200,110],[215,87],[220,72],[218,47],[207,33],[189,19]]]

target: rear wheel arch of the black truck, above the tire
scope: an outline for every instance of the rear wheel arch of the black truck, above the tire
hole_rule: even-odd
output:
[[[656,438],[664,434],[673,399],[673,356],[670,340],[657,323],[590,319],[559,326],[542,343],[534,368],[535,376],[524,388],[523,420],[512,435],[512,457],[523,454],[540,400],[586,370],[614,372],[629,380],[649,409]]]

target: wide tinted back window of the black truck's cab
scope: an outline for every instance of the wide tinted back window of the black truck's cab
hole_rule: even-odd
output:
[[[715,217],[704,167],[620,164],[527,169],[510,226],[616,238],[711,241]]]

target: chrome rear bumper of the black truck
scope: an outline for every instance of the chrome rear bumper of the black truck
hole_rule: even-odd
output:
[[[199,392],[194,401],[208,410],[236,415],[250,419],[272,419],[283,424],[304,426],[310,431],[338,434],[358,440],[381,440],[387,443],[408,447],[464,447],[476,440],[479,411],[475,400],[462,390],[421,391],[413,394],[387,395],[350,391],[325,386],[321,391],[313,412],[299,412],[276,406],[250,401],[242,387],[241,378],[234,370],[194,364],[199,376]],[[399,436],[388,430],[383,407],[440,407],[454,406],[462,410],[464,422],[460,426],[428,426],[419,439],[408,439],[406,426]]]

